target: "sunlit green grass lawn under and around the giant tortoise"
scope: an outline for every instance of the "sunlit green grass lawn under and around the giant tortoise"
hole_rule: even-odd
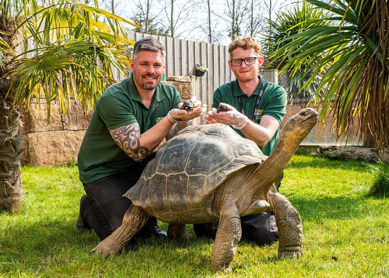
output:
[[[368,196],[364,164],[293,156],[280,192],[303,220],[304,256],[279,259],[278,243],[240,242],[228,277],[389,277],[389,199]],[[84,194],[77,167],[23,167],[21,212],[0,214],[0,277],[218,277],[213,241],[137,241],[120,255],[89,255],[99,242],[75,228]],[[166,231],[167,224],[161,223]]]

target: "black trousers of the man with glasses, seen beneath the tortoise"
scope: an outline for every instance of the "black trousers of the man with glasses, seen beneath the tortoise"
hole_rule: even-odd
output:
[[[253,241],[258,245],[272,244],[278,241],[278,229],[273,213],[263,212],[240,217],[242,239]],[[219,222],[194,224],[193,229],[199,237],[215,239]]]

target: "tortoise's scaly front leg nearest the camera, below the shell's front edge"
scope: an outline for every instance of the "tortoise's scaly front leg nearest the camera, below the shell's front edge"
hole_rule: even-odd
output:
[[[215,271],[230,273],[237,245],[242,237],[242,227],[238,208],[235,204],[222,209],[217,227],[214,249],[212,250],[212,268]]]

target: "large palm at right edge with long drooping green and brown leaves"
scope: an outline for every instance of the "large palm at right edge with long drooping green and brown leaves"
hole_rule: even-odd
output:
[[[304,86],[324,70],[315,91],[321,116],[333,109],[337,138],[347,135],[355,121],[359,140],[373,136],[374,146],[382,152],[389,143],[389,4],[387,0],[307,2],[328,10],[324,19],[337,26],[292,34],[281,40],[291,41],[273,56],[291,56],[282,72],[305,67],[299,76],[304,78],[312,70]]]

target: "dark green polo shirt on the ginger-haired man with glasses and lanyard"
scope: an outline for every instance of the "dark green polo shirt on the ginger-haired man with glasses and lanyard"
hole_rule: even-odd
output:
[[[214,99],[212,103],[212,107],[217,108],[219,103],[224,102],[233,107],[235,107],[239,112],[241,112],[241,106],[238,100],[238,96],[242,99],[242,106],[245,112],[245,115],[252,119],[252,115],[254,113],[254,108],[257,102],[257,98],[259,95],[259,90],[262,86],[262,78],[258,75],[258,78],[261,79],[258,87],[255,89],[254,93],[251,96],[247,96],[247,94],[243,93],[238,85],[237,80],[233,80],[230,83],[223,84],[218,87],[214,93]],[[281,86],[278,86],[274,83],[266,81],[266,87],[262,94],[261,100],[259,101],[258,110],[255,117],[255,122],[259,124],[263,115],[270,115],[277,119],[280,123],[286,114],[286,91]],[[239,129],[234,130],[242,137],[244,137],[243,133],[240,132]],[[259,147],[262,150],[263,154],[266,156],[270,156],[272,151],[274,150],[275,144],[278,141],[280,128],[277,129],[276,133],[270,139],[270,141],[265,145],[265,147]]]

